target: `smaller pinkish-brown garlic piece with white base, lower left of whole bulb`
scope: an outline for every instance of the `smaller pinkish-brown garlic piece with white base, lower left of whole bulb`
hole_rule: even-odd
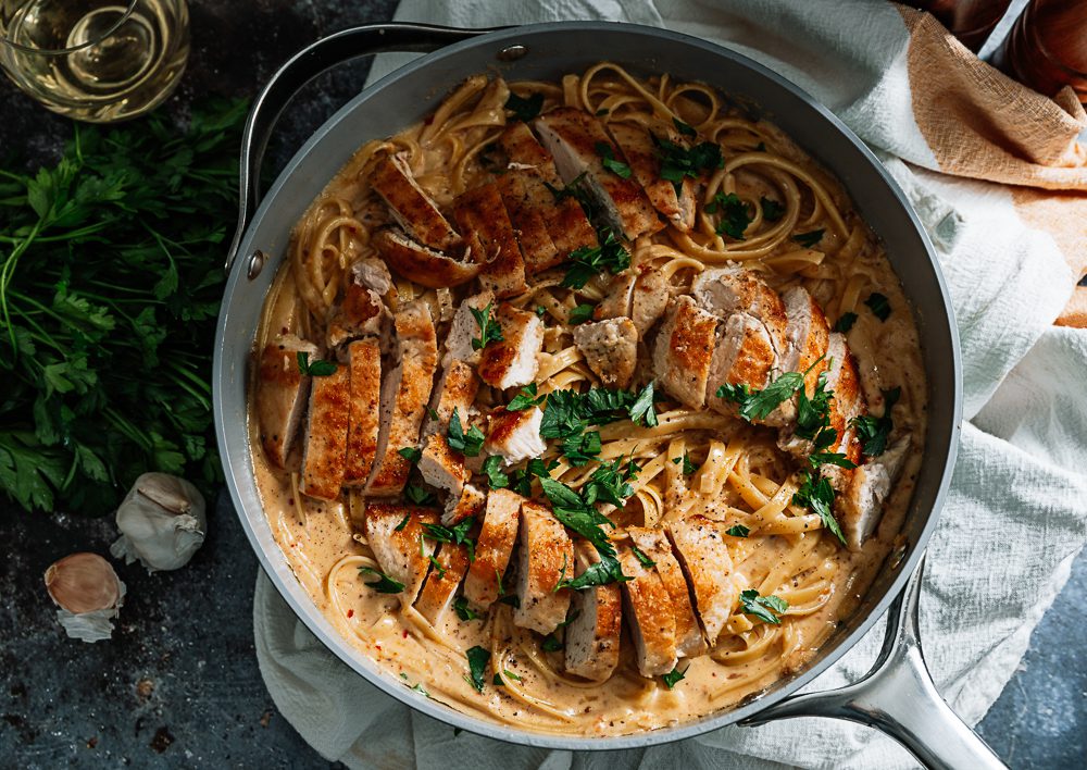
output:
[[[98,554],[72,554],[46,570],[46,589],[57,620],[73,638],[108,639],[125,598],[125,584]]]

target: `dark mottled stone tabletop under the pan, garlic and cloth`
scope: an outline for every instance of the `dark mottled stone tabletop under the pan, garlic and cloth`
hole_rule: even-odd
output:
[[[193,49],[163,108],[184,119],[204,94],[251,95],[291,51],[337,28],[389,18],[395,0],[196,0]],[[296,100],[272,150],[280,165],[361,87],[366,64],[328,73]],[[0,80],[0,157],[57,156],[70,129]],[[128,598],[111,642],[64,636],[41,575],[76,551],[107,554],[111,520],[0,511],[0,768],[308,768],[323,761],[276,712],[257,668],[257,559],[227,509],[176,573],[117,567]],[[1087,557],[1046,614],[979,731],[1015,768],[1087,761]],[[803,757],[797,758],[803,762]]]

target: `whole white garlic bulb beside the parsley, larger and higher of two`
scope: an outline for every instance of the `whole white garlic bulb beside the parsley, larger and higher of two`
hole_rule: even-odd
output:
[[[110,547],[148,572],[185,567],[203,544],[208,519],[200,492],[184,479],[145,473],[117,508],[121,537]]]

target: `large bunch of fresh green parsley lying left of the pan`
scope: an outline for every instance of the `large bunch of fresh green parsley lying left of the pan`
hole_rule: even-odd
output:
[[[0,489],[24,509],[103,513],[149,470],[220,480],[211,358],[246,110],[76,125],[53,167],[0,170]]]

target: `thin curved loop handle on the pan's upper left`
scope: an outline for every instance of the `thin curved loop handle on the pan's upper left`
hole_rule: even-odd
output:
[[[501,27],[497,27],[501,28]],[[337,64],[372,53],[436,51],[451,42],[493,29],[459,29],[430,24],[366,24],[350,27],[313,42],[291,57],[264,86],[249,110],[241,137],[238,226],[226,254],[227,272],[238,256],[241,238],[260,204],[260,172],[268,137],[287,104],[314,77]],[[259,269],[259,268],[258,268]]]

